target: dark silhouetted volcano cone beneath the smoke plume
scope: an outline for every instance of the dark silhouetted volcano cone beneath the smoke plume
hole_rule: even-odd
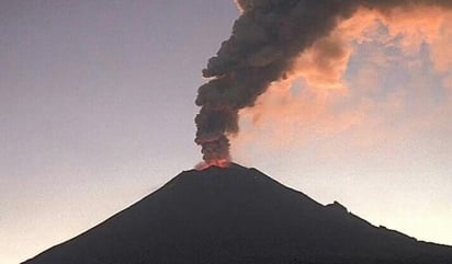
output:
[[[452,248],[376,228],[255,169],[179,174],[26,264],[448,264]]]

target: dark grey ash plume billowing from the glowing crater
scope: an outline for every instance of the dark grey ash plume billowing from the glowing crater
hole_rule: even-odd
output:
[[[241,11],[229,39],[208,60],[199,89],[195,142],[210,163],[229,160],[229,136],[238,133],[238,112],[253,106],[270,83],[284,79],[301,53],[328,36],[359,8],[437,5],[451,0],[236,0]]]

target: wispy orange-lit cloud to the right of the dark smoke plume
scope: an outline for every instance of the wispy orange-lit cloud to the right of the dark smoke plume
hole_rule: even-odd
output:
[[[452,102],[443,76],[452,69],[450,14],[436,7],[360,9],[240,112],[235,150],[258,144],[274,151],[342,134],[365,150],[431,129]]]

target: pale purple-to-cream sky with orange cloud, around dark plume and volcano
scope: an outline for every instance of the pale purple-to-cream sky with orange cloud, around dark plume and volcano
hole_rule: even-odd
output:
[[[0,264],[88,230],[201,161],[201,70],[238,15],[214,0],[0,2]],[[234,161],[452,244],[450,21],[429,9],[341,23],[240,113]],[[328,44],[339,49],[324,59]]]

